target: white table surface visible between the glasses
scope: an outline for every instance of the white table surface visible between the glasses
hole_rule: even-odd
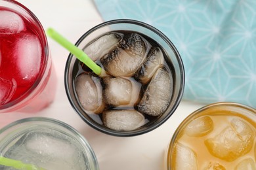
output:
[[[103,22],[93,0],[18,0],[32,10],[45,29],[53,27],[71,42]],[[49,39],[58,78],[56,98],[50,107],[35,114],[0,114],[0,128],[32,116],[61,120],[79,131],[91,144],[101,170],[158,170],[163,168],[165,150],[179,124],[203,104],[181,101],[175,113],[157,129],[136,137],[113,137],[88,126],[72,109],[64,89],[64,67],[69,52]]]

